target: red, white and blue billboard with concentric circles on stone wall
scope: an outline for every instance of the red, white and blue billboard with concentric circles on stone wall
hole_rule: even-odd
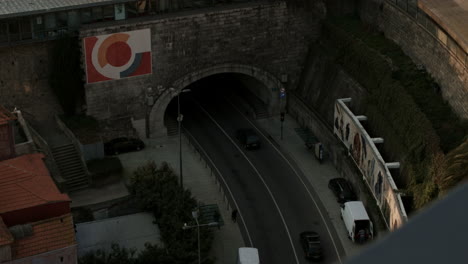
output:
[[[151,74],[151,30],[141,29],[83,39],[86,82]]]

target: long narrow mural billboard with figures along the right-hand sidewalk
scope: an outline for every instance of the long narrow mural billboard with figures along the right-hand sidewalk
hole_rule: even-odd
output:
[[[333,132],[360,169],[388,227],[397,228],[407,219],[398,188],[372,138],[345,101],[338,99],[335,103]]]

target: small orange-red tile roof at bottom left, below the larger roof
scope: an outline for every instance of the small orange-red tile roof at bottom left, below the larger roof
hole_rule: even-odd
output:
[[[31,225],[33,234],[15,240],[12,244],[13,259],[34,256],[76,244],[71,214],[34,222]]]

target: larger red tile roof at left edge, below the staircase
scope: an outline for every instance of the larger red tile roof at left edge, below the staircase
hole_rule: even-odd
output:
[[[0,213],[70,201],[55,186],[43,157],[35,153],[0,161]]]

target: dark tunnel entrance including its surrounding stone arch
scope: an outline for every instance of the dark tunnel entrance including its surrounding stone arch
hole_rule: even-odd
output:
[[[187,100],[216,100],[221,96],[241,107],[249,117],[259,119],[279,115],[285,108],[286,97],[280,99],[281,90],[283,84],[276,77],[252,66],[223,64],[187,74],[165,88],[153,105],[149,136],[177,133],[178,100],[183,112],[187,111]]]

